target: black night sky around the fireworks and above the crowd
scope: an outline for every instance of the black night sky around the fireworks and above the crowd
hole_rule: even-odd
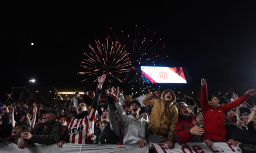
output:
[[[13,86],[31,78],[36,88],[91,87],[81,83],[83,52],[110,27],[117,31],[156,31],[166,46],[158,66],[183,66],[187,85],[200,90],[200,78],[212,89],[245,92],[256,87],[256,2],[74,2],[1,1],[1,100]],[[31,46],[31,43],[34,43]],[[217,91],[217,90],[216,90]],[[216,92],[214,91],[214,92]]]

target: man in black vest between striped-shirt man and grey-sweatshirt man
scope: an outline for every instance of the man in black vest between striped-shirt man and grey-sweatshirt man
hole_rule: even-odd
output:
[[[109,106],[108,106],[109,107]],[[110,112],[111,113],[111,110]],[[114,114],[112,114],[114,115]],[[100,116],[101,127],[94,133],[96,138],[96,143],[98,144],[116,144],[118,142],[119,136],[119,127],[113,126],[112,122],[109,121],[108,112],[104,111]],[[115,125],[118,125],[118,121],[115,119]]]

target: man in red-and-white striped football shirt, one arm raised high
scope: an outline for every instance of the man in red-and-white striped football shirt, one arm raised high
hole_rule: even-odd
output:
[[[100,78],[98,77],[99,84],[90,109],[84,102],[78,105],[75,118],[69,121],[65,131],[62,133],[64,140],[57,142],[58,147],[62,147],[64,143],[87,144],[91,140],[94,132],[95,112],[99,103],[102,83],[105,79],[106,74],[103,74]]]

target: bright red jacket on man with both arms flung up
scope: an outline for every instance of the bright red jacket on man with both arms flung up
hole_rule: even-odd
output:
[[[226,141],[227,131],[224,114],[246,101],[250,96],[243,95],[236,101],[221,105],[219,108],[211,107],[208,104],[207,97],[207,86],[201,86],[200,102],[204,116],[204,136],[207,139]]]

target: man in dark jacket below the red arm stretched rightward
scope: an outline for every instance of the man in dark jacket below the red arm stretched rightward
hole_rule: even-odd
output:
[[[234,139],[238,142],[256,144],[256,135],[249,133],[243,125],[238,125],[238,116],[234,111],[228,111],[225,114],[225,119],[228,120],[226,127],[227,140]]]

